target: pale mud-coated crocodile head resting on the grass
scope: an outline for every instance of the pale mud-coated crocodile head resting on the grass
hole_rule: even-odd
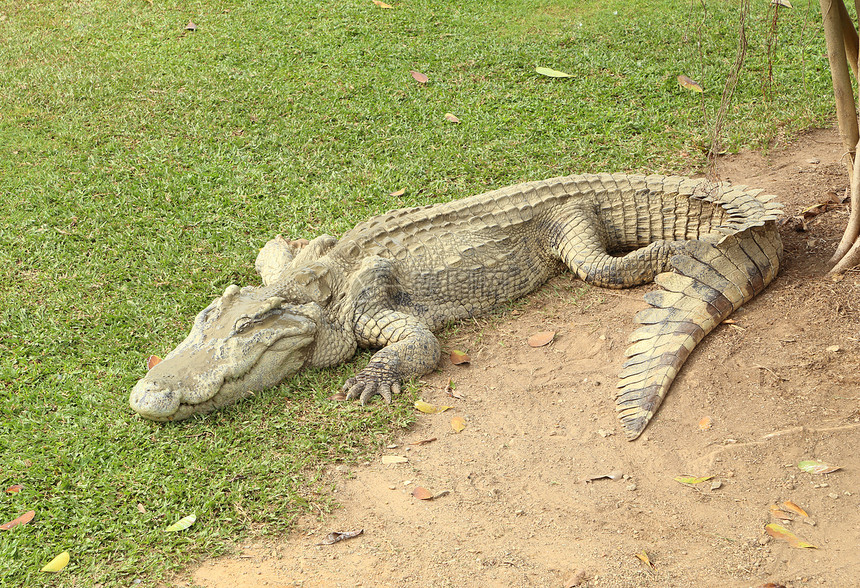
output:
[[[275,386],[314,347],[318,304],[288,304],[267,288],[229,286],[194,320],[188,337],[131,391],[131,407],[173,421]]]

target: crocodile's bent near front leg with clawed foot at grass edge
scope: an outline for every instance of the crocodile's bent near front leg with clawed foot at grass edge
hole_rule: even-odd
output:
[[[439,340],[412,315],[380,310],[358,317],[355,335],[360,345],[382,347],[370,358],[367,367],[346,381],[343,391],[348,400],[362,404],[379,394],[385,402],[400,392],[400,384],[412,376],[426,374],[439,363]]]

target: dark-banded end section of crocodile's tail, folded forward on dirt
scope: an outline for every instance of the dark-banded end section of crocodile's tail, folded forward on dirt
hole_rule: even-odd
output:
[[[782,243],[775,223],[751,225],[717,244],[688,241],[671,258],[674,271],[655,278],[663,290],[645,295],[651,308],[636,315],[642,326],[630,337],[615,399],[629,440],[645,429],[696,344],[776,277]]]

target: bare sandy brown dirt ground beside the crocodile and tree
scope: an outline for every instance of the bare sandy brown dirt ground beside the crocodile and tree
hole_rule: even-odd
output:
[[[407,463],[384,465],[380,454],[333,472],[340,510],[304,518],[281,540],[244,544],[179,583],[860,585],[860,273],[838,282],[824,275],[845,206],[815,216],[805,232],[796,218],[842,196],[841,154],[837,134],[822,130],[766,156],[719,162],[722,179],[785,203],[784,267],[734,324],[699,345],[639,440],[625,440],[613,397],[632,317],[650,288],[584,289],[563,276],[512,313],[449,332],[445,348],[472,362],[446,359],[424,378],[422,398],[454,408],[422,414],[384,452]],[[557,333],[552,344],[526,344],[546,330]],[[449,380],[462,399],[446,396]],[[465,419],[461,433],[454,416]],[[843,469],[811,475],[797,467],[805,459]],[[615,471],[623,477],[583,481]],[[673,480],[684,474],[714,479]],[[418,486],[448,493],[418,500]],[[809,513],[783,524],[817,549],[765,533],[779,522],[770,505],[783,501]],[[331,531],[358,529],[360,537],[317,545]],[[643,550],[653,569],[637,559]]]

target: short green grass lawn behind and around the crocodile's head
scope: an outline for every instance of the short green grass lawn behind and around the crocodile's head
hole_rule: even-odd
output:
[[[366,354],[187,422],[130,411],[144,358],[256,283],[271,236],[554,175],[703,168],[733,3],[390,1],[0,2],[0,485],[24,485],[0,522],[37,513],[0,534],[3,586],[157,583],[330,508],[326,467],[410,422],[409,394],[326,400]],[[819,20],[780,13],[771,81],[755,6],[724,147],[829,124]]]

